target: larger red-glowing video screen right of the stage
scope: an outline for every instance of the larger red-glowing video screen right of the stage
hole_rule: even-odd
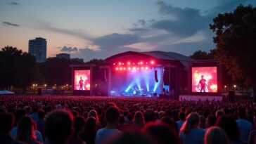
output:
[[[217,67],[192,67],[192,92],[217,93]]]

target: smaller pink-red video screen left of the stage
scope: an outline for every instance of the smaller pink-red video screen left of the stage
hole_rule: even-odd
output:
[[[90,90],[90,70],[75,70],[74,90]]]

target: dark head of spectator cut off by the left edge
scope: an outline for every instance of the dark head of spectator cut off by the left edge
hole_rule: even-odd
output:
[[[11,113],[0,113],[0,134],[8,135],[13,128],[15,117]]]

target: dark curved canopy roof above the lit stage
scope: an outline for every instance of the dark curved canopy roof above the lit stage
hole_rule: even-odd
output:
[[[188,63],[193,59],[188,58],[186,55],[181,55],[174,52],[165,51],[148,51],[148,52],[135,52],[127,51],[124,53],[117,53],[105,59],[106,63],[113,63],[116,60],[125,59],[129,57],[142,57],[142,58],[155,58],[158,61],[165,62],[180,62],[184,67],[188,67]]]

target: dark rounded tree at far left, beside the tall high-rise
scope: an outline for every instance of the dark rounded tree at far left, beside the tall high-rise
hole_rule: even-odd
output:
[[[11,86],[23,89],[30,86],[37,72],[34,56],[23,53],[12,46],[0,51],[0,87],[10,89]]]

